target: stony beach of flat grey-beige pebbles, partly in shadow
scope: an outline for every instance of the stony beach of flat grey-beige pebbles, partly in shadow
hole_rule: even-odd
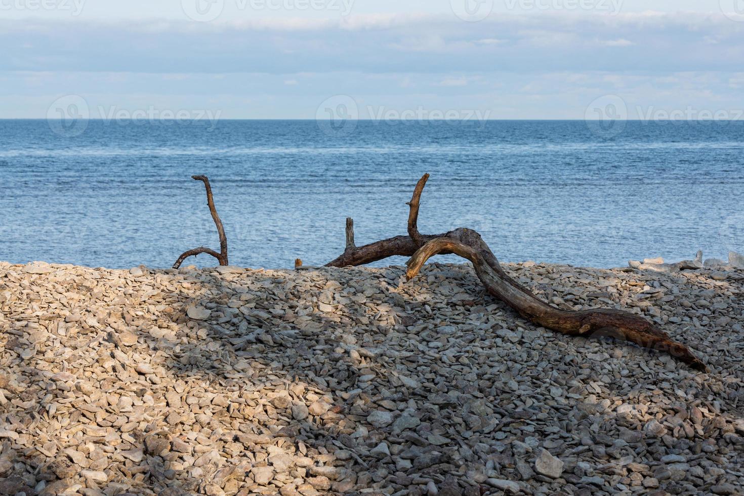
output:
[[[467,264],[0,263],[0,495],[741,495],[744,270],[699,258],[504,269],[708,373],[534,326]]]

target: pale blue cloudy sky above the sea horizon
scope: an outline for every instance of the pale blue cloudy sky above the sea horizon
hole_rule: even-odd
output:
[[[0,0],[0,118],[744,120],[744,0]]]

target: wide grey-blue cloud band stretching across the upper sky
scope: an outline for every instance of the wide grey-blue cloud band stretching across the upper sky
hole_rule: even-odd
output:
[[[713,39],[716,51],[706,42]],[[394,15],[224,23],[6,20],[0,43],[0,67],[7,71],[726,71],[744,58],[744,23],[668,13],[533,13],[471,23]],[[607,57],[608,48],[623,51]]]

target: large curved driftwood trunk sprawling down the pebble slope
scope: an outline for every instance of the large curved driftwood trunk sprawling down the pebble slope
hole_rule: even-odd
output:
[[[426,174],[418,181],[414,196],[408,203],[410,206],[408,236],[396,236],[356,247],[353,243],[353,221],[347,219],[346,249],[327,266],[364,265],[394,255],[403,255],[411,257],[406,272],[408,280],[411,280],[434,255],[457,254],[472,262],[475,274],[490,294],[530,322],[567,335],[586,338],[597,335],[611,336],[638,344],[647,350],[667,352],[690,367],[707,370],[705,364],[684,344],[673,341],[669,335],[640,315],[615,309],[562,310],[545,303],[501,268],[496,256],[481,239],[481,235],[475,231],[458,228],[435,236],[419,233],[417,227],[419,204],[428,179],[429,174]]]

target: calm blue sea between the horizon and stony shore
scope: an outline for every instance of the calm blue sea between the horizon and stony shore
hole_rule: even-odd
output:
[[[231,263],[327,263],[347,216],[358,243],[405,233],[426,172],[421,231],[474,228],[501,260],[726,257],[744,251],[743,145],[740,123],[632,122],[606,139],[580,121],[360,122],[345,136],[314,121],[91,121],[66,138],[0,120],[0,260],[165,267],[219,249],[199,173]]]

